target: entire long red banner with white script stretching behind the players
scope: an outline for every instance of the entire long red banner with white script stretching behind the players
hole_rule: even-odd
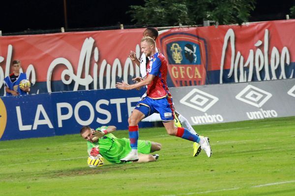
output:
[[[31,93],[115,88],[139,76],[128,54],[141,56],[144,28],[0,37],[0,96],[19,59]],[[173,28],[160,33],[169,86],[295,77],[295,20]]]

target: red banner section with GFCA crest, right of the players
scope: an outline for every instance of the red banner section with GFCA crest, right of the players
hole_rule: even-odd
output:
[[[175,86],[282,79],[295,77],[294,31],[295,20],[173,28],[157,44]]]

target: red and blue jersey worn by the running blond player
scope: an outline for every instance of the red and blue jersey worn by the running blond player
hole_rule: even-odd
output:
[[[149,60],[147,66],[148,74],[155,75],[148,85],[147,96],[152,99],[171,97],[167,86],[167,61],[163,54],[156,52]]]

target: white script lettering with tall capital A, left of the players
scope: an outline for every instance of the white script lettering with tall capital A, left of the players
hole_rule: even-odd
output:
[[[77,74],[74,73],[73,66],[69,60],[63,57],[56,58],[50,64],[47,71],[47,91],[51,93],[51,77],[54,72],[54,68],[58,65],[66,66],[66,70],[61,73],[61,81],[64,84],[70,84],[73,80],[75,82],[73,91],[77,91],[79,85],[85,86],[86,90],[89,90],[89,84],[93,81],[93,89],[97,89],[97,71],[98,65],[97,62],[99,60],[99,51],[98,48],[94,48],[94,65],[93,65],[93,77],[89,74],[91,54],[94,45],[94,39],[92,37],[86,38],[79,57],[78,62],[78,70]],[[140,52],[138,49],[139,45],[136,46],[136,52]],[[138,54],[137,54],[138,55]],[[82,71],[84,69],[84,78],[82,78]],[[112,69],[112,71],[111,71]],[[136,66],[136,77],[139,76],[139,67]],[[105,80],[106,84],[104,84],[104,75],[106,75]],[[132,60],[128,57],[124,64],[123,70],[123,80],[128,81],[128,76],[134,76],[134,65]],[[66,79],[67,77],[68,79]],[[101,62],[100,70],[99,70],[99,89],[110,89],[116,88],[116,77],[122,77],[122,66],[120,60],[116,58],[113,62],[113,66],[108,64],[108,62],[104,59]],[[94,79],[93,79],[94,78]]]

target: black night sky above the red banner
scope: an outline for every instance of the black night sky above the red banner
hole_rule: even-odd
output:
[[[63,0],[5,0],[0,2],[2,34],[65,27]],[[134,25],[126,14],[144,0],[66,0],[68,29]],[[295,0],[257,0],[250,22],[284,20]]]

